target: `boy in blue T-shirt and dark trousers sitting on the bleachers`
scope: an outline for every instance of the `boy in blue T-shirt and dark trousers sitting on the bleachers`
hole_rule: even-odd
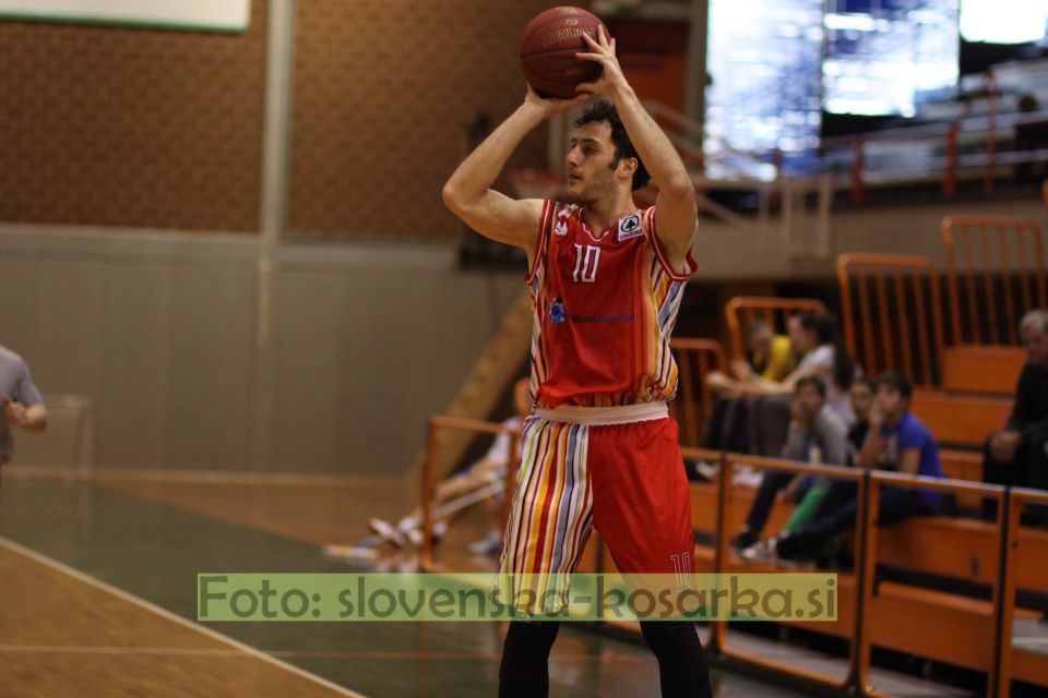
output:
[[[934,437],[909,411],[913,393],[913,384],[895,372],[884,372],[878,377],[870,428],[856,459],[857,467],[943,477]],[[940,500],[941,494],[930,490],[883,488],[878,502],[878,524],[892,526],[910,516],[934,514]],[[775,553],[784,559],[818,556],[826,541],[855,528],[856,508],[855,483],[835,481],[812,519],[775,541]]]

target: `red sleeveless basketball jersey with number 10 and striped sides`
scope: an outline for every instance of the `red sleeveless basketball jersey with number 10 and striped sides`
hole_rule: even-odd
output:
[[[547,201],[533,268],[535,405],[616,407],[677,390],[669,338],[691,254],[675,272],[658,243],[655,207],[590,230],[582,208]]]

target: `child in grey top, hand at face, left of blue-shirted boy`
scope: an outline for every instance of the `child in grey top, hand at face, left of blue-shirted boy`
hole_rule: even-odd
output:
[[[826,404],[826,386],[820,378],[810,375],[797,381],[790,411],[793,419],[782,458],[838,466],[846,462],[848,426]],[[811,476],[765,470],[750,506],[746,527],[731,541],[733,549],[741,551],[760,540],[775,497],[784,489],[790,501],[803,502],[801,510],[806,507],[808,510],[814,509],[825,493]]]

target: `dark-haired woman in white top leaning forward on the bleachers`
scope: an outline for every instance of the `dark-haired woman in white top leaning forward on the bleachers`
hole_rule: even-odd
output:
[[[832,315],[801,313],[786,325],[794,353],[801,357],[797,369],[781,383],[760,377],[742,383],[730,382],[726,387],[741,395],[752,396],[750,409],[750,453],[758,456],[777,456],[786,441],[789,425],[789,396],[797,381],[817,376],[825,385],[826,402],[846,423],[855,421],[848,404],[848,387],[855,373],[855,362],[844,348]]]

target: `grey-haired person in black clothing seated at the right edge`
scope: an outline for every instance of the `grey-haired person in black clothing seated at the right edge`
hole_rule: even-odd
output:
[[[1003,431],[990,435],[984,447],[986,482],[1048,490],[1048,311],[1023,315],[1019,326],[1026,365],[1015,388],[1015,406]],[[984,502],[984,515],[996,518],[997,502]],[[1024,522],[1048,525],[1045,507],[1028,507]]]

